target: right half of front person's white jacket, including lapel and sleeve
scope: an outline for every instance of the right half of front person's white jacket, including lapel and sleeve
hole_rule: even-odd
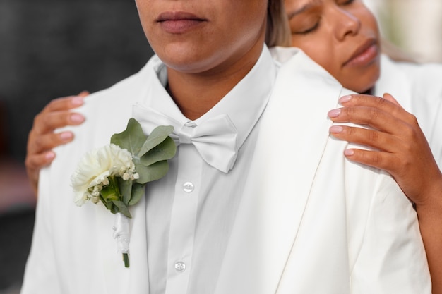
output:
[[[239,272],[261,265],[262,282],[242,293],[431,293],[410,202],[388,174],[342,156],[349,144],[328,136],[327,112],[350,92],[303,57],[278,73],[249,174],[263,180],[246,191],[227,251]],[[280,143],[269,152],[267,142]],[[226,274],[218,293],[241,278]]]

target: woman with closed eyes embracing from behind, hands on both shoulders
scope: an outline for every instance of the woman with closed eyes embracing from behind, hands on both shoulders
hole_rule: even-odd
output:
[[[391,93],[419,120],[420,128],[414,116],[396,104],[390,95],[384,96],[386,100],[355,96],[350,101],[342,102],[344,108],[330,111],[330,118],[338,122],[352,121],[371,125],[377,132],[371,133],[372,131],[350,127],[333,127],[330,131],[342,140],[359,142],[378,149],[378,152],[363,149],[346,150],[345,156],[362,164],[386,169],[416,204],[429,258],[433,290],[434,293],[438,293],[437,291],[442,291],[442,261],[441,255],[438,254],[442,246],[442,180],[424,133],[429,139],[434,156],[438,163],[441,163],[441,148],[438,143],[438,134],[441,133],[438,129],[441,128],[441,124],[438,123],[441,115],[438,111],[441,107],[438,105],[442,99],[440,83],[434,80],[435,77],[441,76],[441,66],[394,62],[385,55],[379,55],[376,20],[360,1],[325,1],[303,13],[294,13],[299,7],[309,3],[301,0],[285,1],[292,31],[292,45],[303,49],[350,90],[370,92],[379,97],[386,92]],[[338,13],[330,13],[330,8]],[[358,11],[354,11],[354,8]],[[321,23],[321,18],[321,21],[326,23]],[[350,27],[350,33],[345,38],[336,39],[334,32],[340,27],[347,27],[347,30]],[[366,54],[360,52],[362,57],[358,58],[362,65],[347,67],[345,73],[340,68],[339,60],[347,60],[361,44],[364,46],[360,40],[367,39],[367,33],[371,35],[368,39],[374,40],[376,46],[369,47]],[[330,58],[333,54],[339,56]],[[370,58],[374,61],[364,66],[364,59]],[[52,149],[73,140],[71,131],[54,133],[54,129],[83,123],[84,118],[81,114],[70,111],[83,104],[83,98],[87,94],[83,92],[76,97],[55,99],[35,118],[28,140],[26,159],[28,174],[35,189],[38,171],[42,166],[50,164],[55,157]],[[380,115],[374,117],[370,114]]]

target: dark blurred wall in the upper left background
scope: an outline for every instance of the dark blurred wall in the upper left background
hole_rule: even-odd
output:
[[[134,1],[0,0],[9,155],[24,159],[32,119],[51,99],[109,87],[152,54]]]

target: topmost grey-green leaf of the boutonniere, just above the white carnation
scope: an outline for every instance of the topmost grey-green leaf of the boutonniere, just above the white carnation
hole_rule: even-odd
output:
[[[145,143],[147,136],[143,133],[140,123],[135,118],[130,118],[126,130],[114,134],[111,137],[111,143],[118,145],[123,149],[129,150],[131,154],[138,154]]]

